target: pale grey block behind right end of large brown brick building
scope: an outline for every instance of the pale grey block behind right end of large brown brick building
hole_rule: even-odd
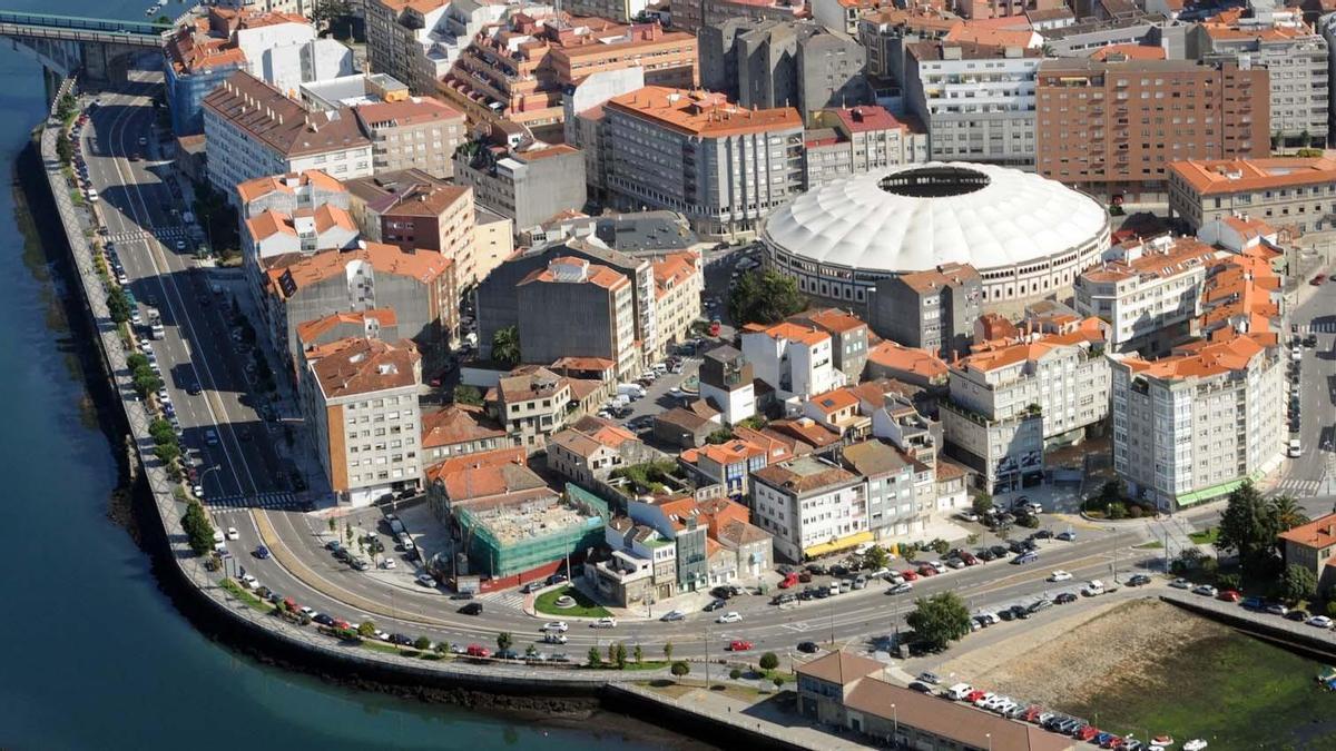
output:
[[[1225,57],[1241,68],[1265,68],[1271,78],[1271,135],[1285,146],[1327,143],[1327,40],[1304,23],[1297,8],[1230,8],[1189,32],[1204,57]]]

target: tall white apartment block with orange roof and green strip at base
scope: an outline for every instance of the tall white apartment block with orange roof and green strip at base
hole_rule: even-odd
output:
[[[1269,333],[1157,361],[1113,359],[1113,466],[1174,510],[1218,498],[1284,452],[1284,357]]]

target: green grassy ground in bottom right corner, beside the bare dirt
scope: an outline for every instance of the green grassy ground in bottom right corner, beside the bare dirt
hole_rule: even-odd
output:
[[[1201,738],[1220,748],[1336,750],[1321,665],[1240,633],[1161,657],[1150,676],[1118,676],[1089,702],[1062,706],[1110,732]]]

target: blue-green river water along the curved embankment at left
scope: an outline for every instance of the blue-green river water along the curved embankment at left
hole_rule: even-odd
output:
[[[4,4],[136,19],[124,0]],[[172,11],[179,12],[172,4]],[[9,43],[5,40],[4,47]],[[45,112],[40,68],[0,49],[0,150]],[[542,726],[331,687],[202,636],[108,518],[116,453],[96,425],[61,319],[59,265],[24,245],[0,191],[0,748],[637,748],[629,723]],[[39,216],[39,222],[49,220]],[[59,257],[57,257],[59,258]],[[591,727],[592,726],[592,727]],[[599,731],[599,727],[615,730]]]

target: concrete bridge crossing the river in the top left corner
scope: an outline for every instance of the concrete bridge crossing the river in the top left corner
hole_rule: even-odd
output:
[[[124,78],[127,63],[160,49],[172,24],[0,11],[0,36],[41,63],[48,95],[79,72],[86,83]]]

